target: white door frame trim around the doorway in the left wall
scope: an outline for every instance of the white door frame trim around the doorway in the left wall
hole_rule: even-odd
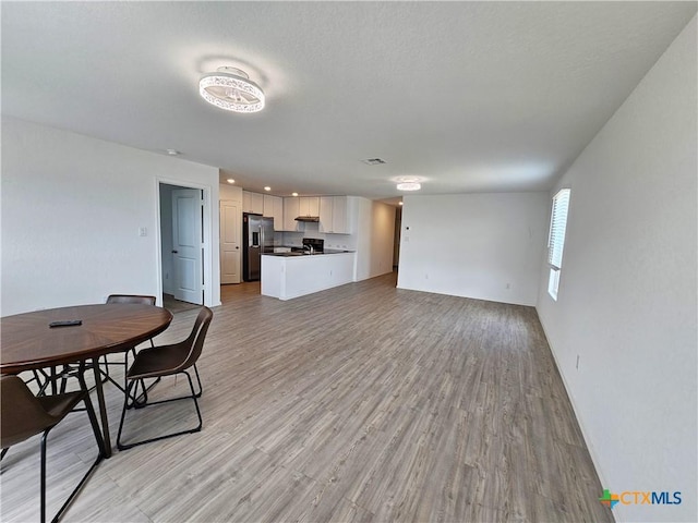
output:
[[[181,180],[174,180],[169,178],[155,179],[155,208],[156,208],[156,235],[157,235],[157,304],[163,306],[163,223],[160,219],[160,184],[176,185],[182,188],[195,188],[203,192],[204,212],[203,212],[203,228],[204,228],[204,263],[202,265],[202,276],[204,280],[204,305],[207,307],[214,307],[220,305],[220,303],[214,303],[214,280],[215,270],[218,269],[218,263],[213,259],[214,235],[213,235],[213,207],[212,207],[212,187],[210,185],[198,184],[193,182],[183,182]],[[220,279],[218,277],[218,279]]]

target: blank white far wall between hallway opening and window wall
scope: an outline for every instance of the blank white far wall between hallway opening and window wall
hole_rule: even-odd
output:
[[[547,193],[408,195],[402,200],[400,289],[535,304]]]

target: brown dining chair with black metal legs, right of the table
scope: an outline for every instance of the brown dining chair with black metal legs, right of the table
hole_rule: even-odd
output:
[[[210,311],[210,308],[202,307],[202,309],[198,312],[198,316],[196,316],[196,320],[194,321],[194,327],[192,328],[191,333],[185,340],[169,345],[143,349],[135,355],[133,365],[127,373],[127,393],[124,394],[123,410],[121,411],[121,422],[119,423],[119,434],[117,436],[117,447],[120,450],[130,449],[137,445],[158,441],[160,439],[171,438],[183,434],[197,433],[198,430],[201,430],[203,422],[201,417],[201,410],[198,409],[198,401],[196,399],[201,397],[203,388],[201,385],[201,377],[198,376],[198,369],[196,368],[196,362],[198,361],[198,357],[201,356],[201,353],[203,351],[204,339],[206,338],[206,332],[208,331],[208,326],[210,325],[210,320],[213,319],[213,317],[214,313]],[[188,372],[188,369],[191,367],[194,368],[194,374],[198,384],[198,391],[194,389],[192,377]],[[129,398],[132,396],[132,389],[136,386],[136,384],[139,384],[139,381],[142,381],[143,379],[161,378],[165,376],[174,376],[177,374],[184,374],[186,376],[191,396],[148,402],[147,390],[144,390],[143,402],[136,403],[135,406],[136,409],[143,409],[159,403],[169,403],[171,401],[191,399],[193,400],[194,408],[196,409],[198,425],[194,428],[188,428],[155,438],[144,439],[132,443],[122,443],[121,431],[123,429],[127,409],[129,409]]]

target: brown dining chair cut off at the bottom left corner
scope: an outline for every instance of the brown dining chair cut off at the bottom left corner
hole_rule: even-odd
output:
[[[9,449],[13,445],[17,445],[32,436],[43,434],[41,464],[40,464],[40,514],[41,523],[46,521],[46,447],[48,434],[70,413],[81,401],[85,404],[85,410],[89,417],[92,429],[95,433],[97,447],[99,449],[97,459],[85,473],[77,486],[73,489],[68,500],[60,508],[56,516],[51,520],[57,522],[65,512],[65,509],[75,499],[77,492],[83,488],[95,467],[104,459],[105,443],[101,439],[97,417],[89,401],[89,392],[85,386],[83,377],[84,366],[81,366],[77,378],[80,380],[80,390],[67,392],[56,396],[35,397],[28,389],[26,384],[17,376],[0,377],[0,415],[2,431],[0,440],[2,449]],[[7,488],[7,487],[5,487]]]

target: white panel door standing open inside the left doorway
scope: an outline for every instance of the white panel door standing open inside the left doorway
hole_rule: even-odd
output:
[[[203,199],[197,188],[172,191],[172,269],[174,297],[204,303]]]

